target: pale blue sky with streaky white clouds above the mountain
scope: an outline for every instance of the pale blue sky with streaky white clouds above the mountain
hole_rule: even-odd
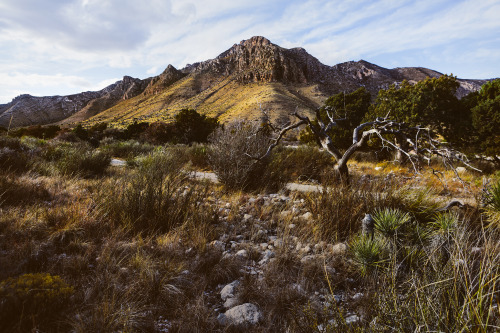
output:
[[[158,75],[252,36],[331,66],[500,77],[500,0],[0,0],[0,104]]]

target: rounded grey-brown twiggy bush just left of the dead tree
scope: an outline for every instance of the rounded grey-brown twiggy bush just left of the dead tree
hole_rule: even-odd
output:
[[[256,161],[270,140],[255,124],[234,122],[217,129],[210,138],[208,159],[219,181],[231,190],[277,190],[285,182],[281,170],[269,168],[270,158]]]

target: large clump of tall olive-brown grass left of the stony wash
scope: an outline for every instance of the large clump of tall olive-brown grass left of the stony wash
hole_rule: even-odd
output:
[[[175,154],[154,152],[129,175],[103,184],[97,201],[112,223],[146,234],[168,232],[193,219],[212,219],[211,209],[199,205],[204,189],[191,186],[182,166]]]

